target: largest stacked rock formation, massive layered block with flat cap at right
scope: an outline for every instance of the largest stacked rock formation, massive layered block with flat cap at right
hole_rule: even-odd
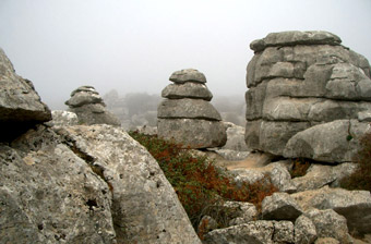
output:
[[[327,32],[273,33],[251,42],[248,147],[288,158],[351,161],[371,119],[371,68],[340,42]]]

